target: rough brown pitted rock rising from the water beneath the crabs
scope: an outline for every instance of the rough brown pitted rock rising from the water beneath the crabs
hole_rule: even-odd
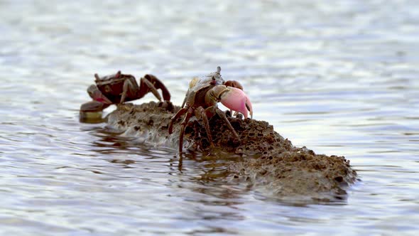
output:
[[[170,146],[178,150],[181,119],[168,134],[168,124],[180,107],[150,102],[140,105],[123,104],[107,117],[107,123],[136,136],[148,144]],[[330,201],[346,198],[347,187],[354,183],[357,173],[343,156],[325,156],[297,148],[273,130],[268,122],[229,117],[239,134],[236,140],[222,122],[209,119],[215,150],[209,150],[207,134],[202,124],[191,119],[185,129],[184,151],[228,159],[223,181],[244,184],[263,196],[290,200]],[[232,158],[236,157],[236,158]]]

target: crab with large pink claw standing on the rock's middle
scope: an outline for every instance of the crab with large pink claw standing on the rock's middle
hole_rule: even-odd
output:
[[[242,87],[239,82],[234,80],[224,82],[220,72],[221,68],[218,67],[217,72],[215,73],[210,73],[205,77],[194,78],[189,84],[189,89],[186,92],[182,108],[172,117],[172,119],[170,119],[168,129],[169,134],[172,134],[173,123],[185,114],[185,118],[181,123],[179,135],[180,154],[182,154],[183,149],[185,128],[187,127],[190,118],[194,115],[197,119],[202,119],[211,147],[214,147],[214,143],[212,141],[208,119],[215,114],[218,114],[219,117],[224,119],[224,122],[226,122],[230,131],[234,134],[236,139],[239,139],[239,135],[232,127],[232,124],[230,124],[224,112],[217,107],[218,102],[221,102],[229,109],[242,113],[245,118],[248,117],[248,111],[250,112],[250,116],[253,116],[253,109],[249,97],[241,90]]]

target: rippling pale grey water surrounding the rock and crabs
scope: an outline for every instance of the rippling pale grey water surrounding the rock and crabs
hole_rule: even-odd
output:
[[[417,1],[0,1],[1,235],[415,235]],[[289,204],[78,121],[93,73],[153,73],[180,104],[222,67],[254,118],[344,155],[346,200]],[[153,100],[148,95],[140,102]],[[109,107],[106,112],[111,112]],[[219,177],[219,176],[218,176]]]

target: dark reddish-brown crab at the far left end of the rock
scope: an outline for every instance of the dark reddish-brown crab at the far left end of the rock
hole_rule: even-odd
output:
[[[163,85],[163,82],[154,75],[144,75],[139,80],[139,85],[133,75],[121,74],[121,70],[114,75],[99,77],[99,75],[94,74],[94,77],[96,85],[90,85],[87,88],[87,93],[93,101],[82,104],[80,112],[102,112],[111,104],[137,100],[144,97],[148,92],[152,92],[161,102],[162,99],[157,92],[158,89],[162,92],[163,100],[170,102],[170,92]]]

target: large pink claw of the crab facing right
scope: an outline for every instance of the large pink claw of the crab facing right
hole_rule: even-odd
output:
[[[236,87],[227,87],[228,92],[224,92],[221,97],[221,103],[229,109],[240,112],[247,118],[247,110],[249,109],[250,117],[253,118],[253,109],[249,97]]]

